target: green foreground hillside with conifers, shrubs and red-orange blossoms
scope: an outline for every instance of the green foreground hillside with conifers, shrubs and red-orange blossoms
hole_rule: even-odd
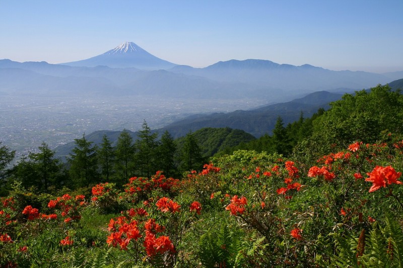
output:
[[[136,141],[77,139],[68,166],[44,143],[11,168],[2,146],[0,266],[401,267],[402,126],[403,96],[378,85],[259,139],[178,146],[144,122]]]

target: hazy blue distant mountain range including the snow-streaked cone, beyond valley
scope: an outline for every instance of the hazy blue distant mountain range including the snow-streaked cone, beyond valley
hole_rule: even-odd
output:
[[[64,64],[0,60],[0,95],[150,96],[290,101],[317,91],[347,92],[403,78],[403,71],[332,71],[269,60],[220,61],[193,68],[159,59],[135,43]]]

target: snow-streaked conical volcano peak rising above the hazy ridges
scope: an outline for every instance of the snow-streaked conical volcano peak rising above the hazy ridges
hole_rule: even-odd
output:
[[[60,63],[62,65],[96,67],[99,65],[111,68],[138,68],[143,70],[169,69],[176,64],[160,59],[133,42],[123,44],[105,53],[79,61]]]

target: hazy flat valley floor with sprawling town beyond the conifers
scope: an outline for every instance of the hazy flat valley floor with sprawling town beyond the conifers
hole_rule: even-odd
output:
[[[263,99],[2,96],[0,142],[16,150],[18,159],[37,152],[42,141],[55,148],[97,130],[138,131],[144,120],[157,129],[192,114],[248,110],[265,104]]]

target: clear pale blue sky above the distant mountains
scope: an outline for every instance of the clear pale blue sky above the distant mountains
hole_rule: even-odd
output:
[[[0,59],[61,63],[132,41],[176,64],[403,70],[403,0],[0,0]]]

